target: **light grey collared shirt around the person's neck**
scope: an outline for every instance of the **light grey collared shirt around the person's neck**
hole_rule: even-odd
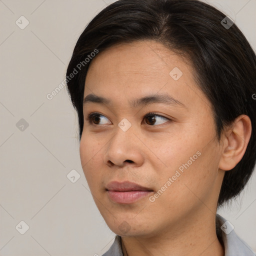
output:
[[[216,233],[224,246],[225,256],[255,256],[252,249],[234,232],[232,225],[216,214]],[[116,235],[111,247],[102,256],[123,256],[121,236]]]

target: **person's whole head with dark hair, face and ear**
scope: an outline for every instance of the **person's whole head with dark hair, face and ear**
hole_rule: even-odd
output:
[[[152,234],[214,213],[248,181],[256,56],[224,17],[197,0],[119,0],[80,35],[67,88],[83,171],[115,233],[123,234],[123,220],[131,234]],[[148,192],[133,203],[113,201],[113,180]]]

